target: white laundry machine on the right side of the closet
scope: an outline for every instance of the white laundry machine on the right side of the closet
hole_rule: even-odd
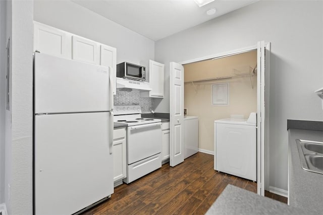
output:
[[[256,120],[253,118],[214,121],[214,170],[256,181]]]

